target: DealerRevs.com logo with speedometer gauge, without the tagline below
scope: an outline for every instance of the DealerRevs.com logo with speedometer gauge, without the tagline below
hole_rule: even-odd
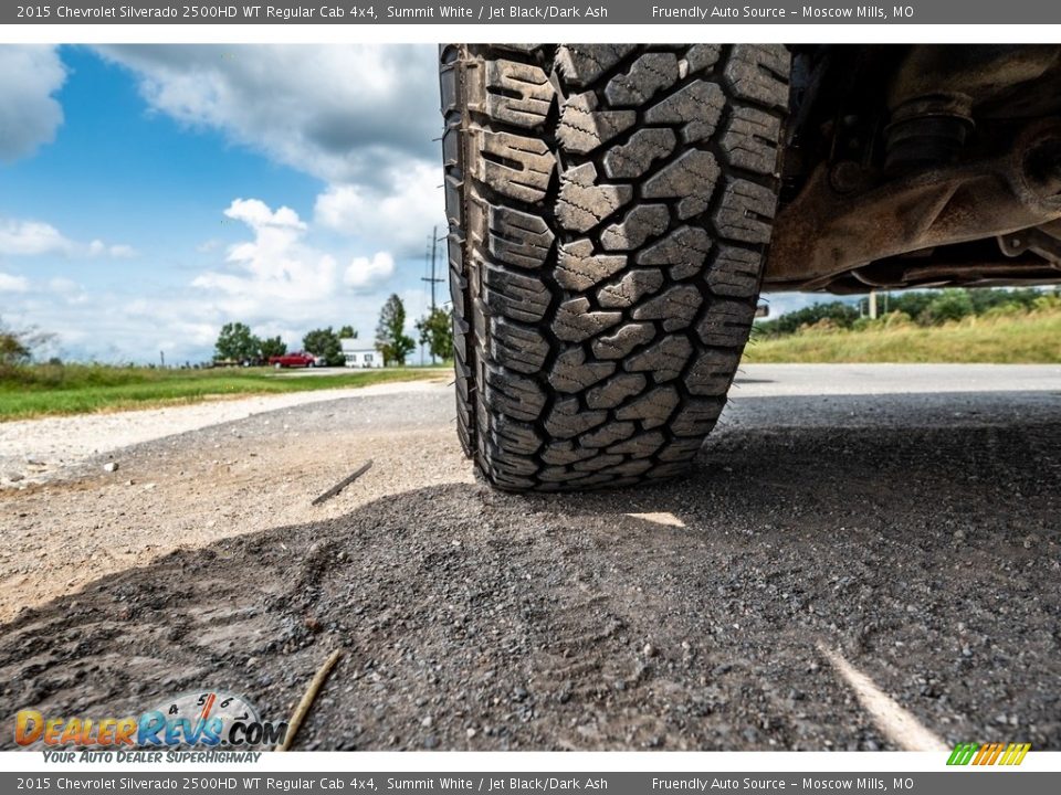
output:
[[[14,741],[22,746],[262,748],[279,745],[286,733],[286,722],[263,721],[245,698],[221,690],[182,693],[138,717],[57,717],[27,709],[14,719]]]

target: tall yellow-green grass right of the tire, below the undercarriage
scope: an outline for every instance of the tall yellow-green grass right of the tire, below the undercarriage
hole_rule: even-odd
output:
[[[966,318],[944,326],[878,325],[863,330],[806,327],[756,339],[748,362],[1061,363],[1061,311]]]

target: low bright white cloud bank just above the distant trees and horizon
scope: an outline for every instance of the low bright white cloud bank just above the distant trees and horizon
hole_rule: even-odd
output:
[[[222,262],[186,289],[160,289],[150,277],[113,292],[67,276],[30,280],[0,273],[0,293],[19,294],[9,319],[55,332],[63,356],[104,361],[154,360],[159,350],[167,361],[201,361],[221,326],[234,319],[260,336],[280,335],[292,349],[302,346],[306,330],[327,325],[353,324],[371,339],[379,309],[395,289],[390,253],[342,265],[313,242],[312,225],[291,208],[237,199],[224,214],[243,225],[248,239],[228,246]],[[416,303],[417,296],[422,303],[422,290],[399,292],[411,324],[422,308]]]

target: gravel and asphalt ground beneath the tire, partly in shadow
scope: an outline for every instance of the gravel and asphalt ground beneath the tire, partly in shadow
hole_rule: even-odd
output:
[[[349,394],[0,491],[2,718],[282,719],[342,647],[296,748],[1061,750],[1061,369],[747,367],[687,478],[563,497]]]

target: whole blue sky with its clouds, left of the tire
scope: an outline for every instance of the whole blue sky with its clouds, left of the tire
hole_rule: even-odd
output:
[[[67,358],[426,310],[430,46],[0,46],[0,318]],[[443,265],[440,262],[440,266]],[[444,297],[444,295],[443,295]]]

